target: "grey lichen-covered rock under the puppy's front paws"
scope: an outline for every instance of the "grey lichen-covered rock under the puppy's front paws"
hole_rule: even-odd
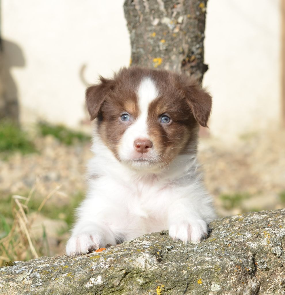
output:
[[[217,219],[200,244],[144,235],[0,268],[0,294],[285,294],[285,209]]]

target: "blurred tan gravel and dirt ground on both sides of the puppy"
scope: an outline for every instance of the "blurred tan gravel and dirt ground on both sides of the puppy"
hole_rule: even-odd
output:
[[[27,194],[37,178],[37,198],[61,186],[61,193],[48,200],[57,207],[69,203],[76,192],[84,194],[90,144],[66,146],[52,136],[38,138],[35,144],[37,154],[18,153],[8,161],[0,160],[0,206],[9,195]],[[285,131],[247,135],[231,145],[204,138],[199,149],[205,184],[219,216],[285,207]],[[57,224],[46,218],[45,226],[53,237],[51,255],[64,253],[67,224],[59,216]]]

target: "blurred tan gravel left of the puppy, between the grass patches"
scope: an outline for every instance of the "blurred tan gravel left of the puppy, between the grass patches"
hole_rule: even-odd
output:
[[[67,146],[48,135],[37,138],[35,145],[37,154],[16,153],[8,161],[0,160],[0,195],[27,194],[37,178],[41,197],[58,185],[67,195],[85,190],[85,165],[92,156],[90,144]]]

